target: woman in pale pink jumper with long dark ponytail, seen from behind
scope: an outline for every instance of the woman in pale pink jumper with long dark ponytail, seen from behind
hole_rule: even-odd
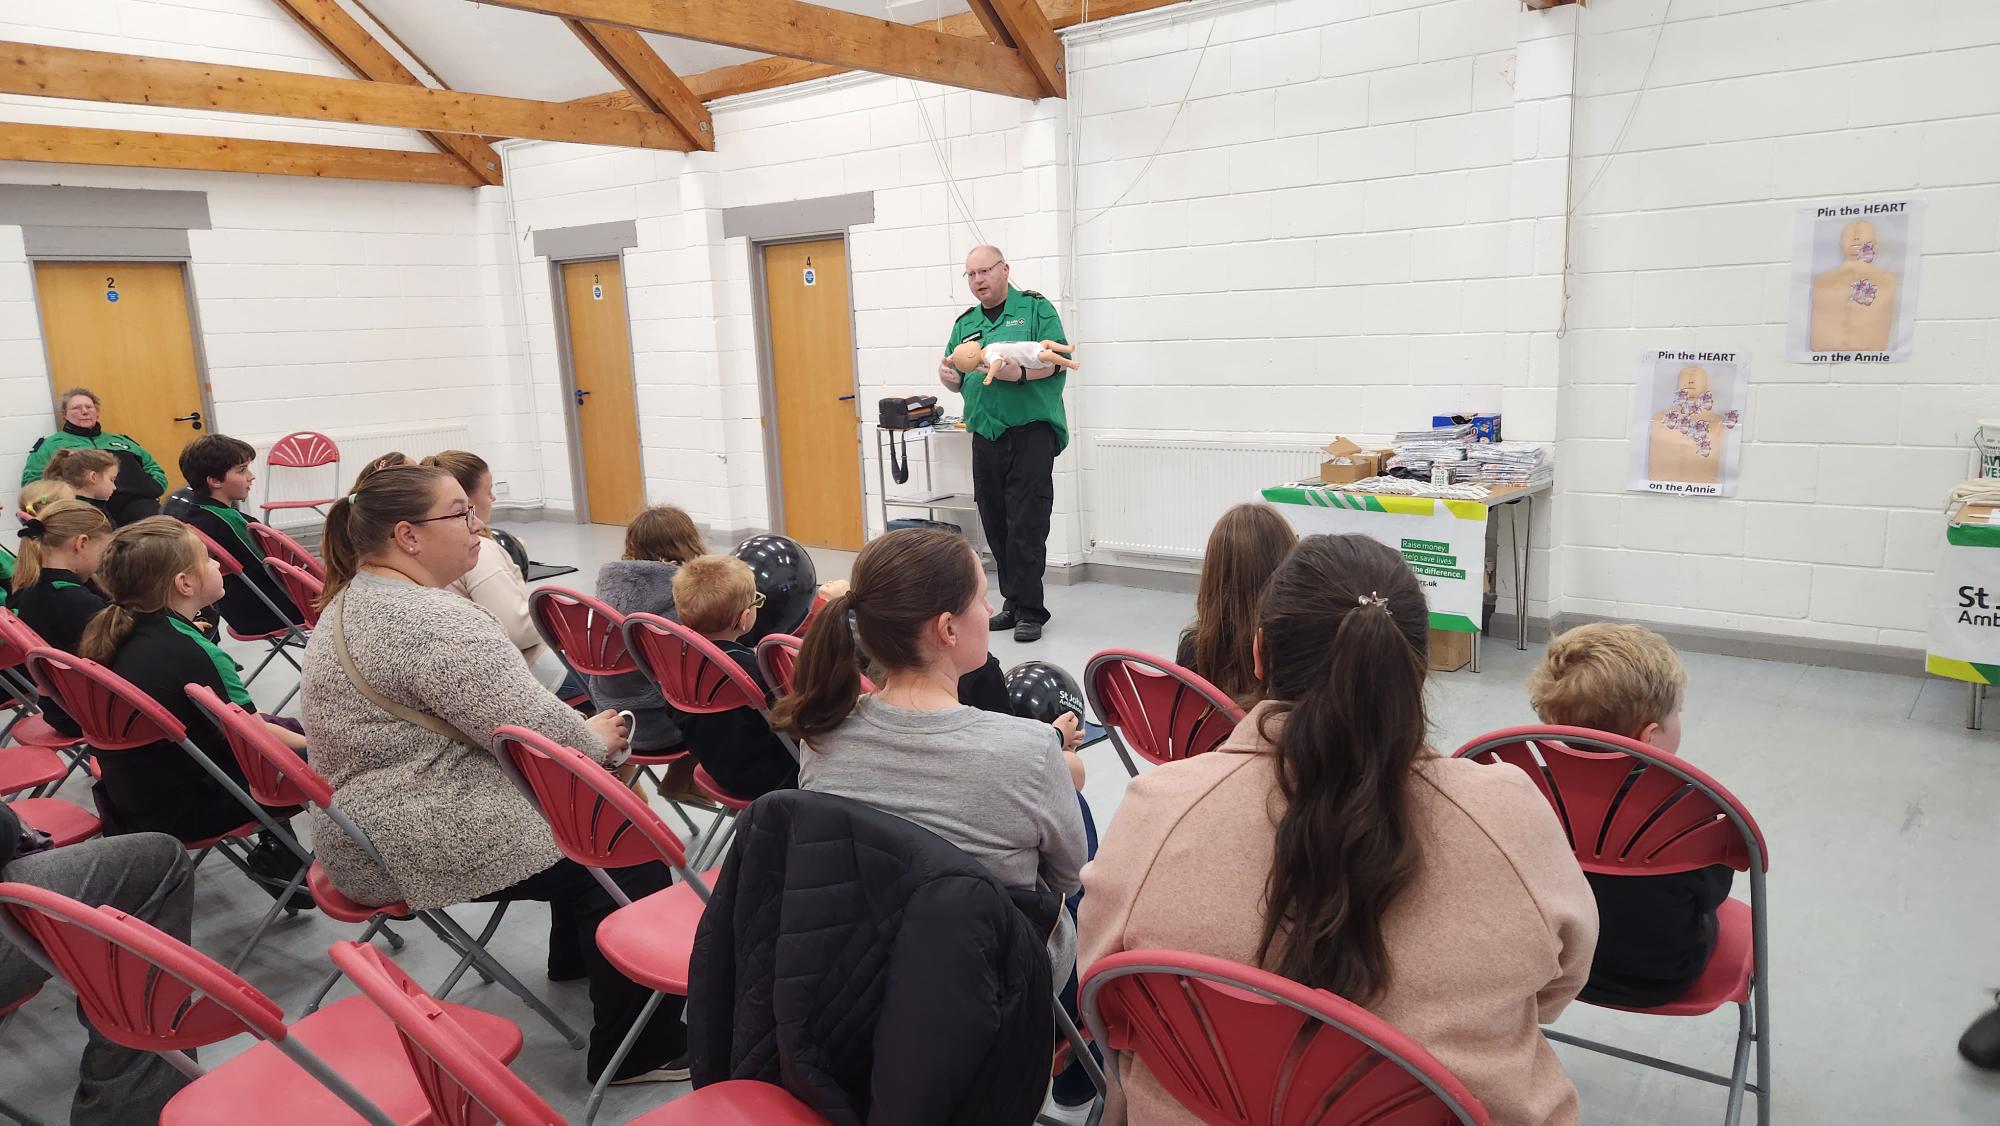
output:
[[[1596,904],[1526,774],[1426,744],[1428,632],[1400,552],[1300,540],[1256,618],[1262,702],[1130,784],[1090,866],[1082,962],[1264,966],[1408,1032],[1494,1122],[1568,1126],[1576,1090],[1540,1024],[1588,978]],[[1196,1122],[1136,1060],[1120,1072],[1130,1120]]]

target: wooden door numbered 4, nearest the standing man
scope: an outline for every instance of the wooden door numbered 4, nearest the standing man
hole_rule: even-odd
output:
[[[772,406],[784,534],[810,548],[862,546],[854,306],[838,238],[764,248]]]

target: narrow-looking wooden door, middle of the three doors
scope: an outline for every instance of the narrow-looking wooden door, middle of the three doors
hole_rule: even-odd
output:
[[[570,326],[570,404],[584,454],[584,504],[592,524],[628,524],[646,506],[646,472],[638,460],[638,394],[620,262],[564,262],[562,308]]]

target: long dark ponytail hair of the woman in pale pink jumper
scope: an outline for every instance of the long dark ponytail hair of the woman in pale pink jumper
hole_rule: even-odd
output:
[[[1262,734],[1284,794],[1258,962],[1276,952],[1286,978],[1368,1004],[1388,984],[1382,916],[1418,862],[1406,792],[1430,610],[1394,548],[1308,536],[1272,576],[1258,628],[1276,704]]]

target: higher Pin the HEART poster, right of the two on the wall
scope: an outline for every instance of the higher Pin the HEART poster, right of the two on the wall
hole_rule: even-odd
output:
[[[1908,360],[1922,260],[1922,200],[1826,200],[1800,208],[1784,358],[1794,364]]]

